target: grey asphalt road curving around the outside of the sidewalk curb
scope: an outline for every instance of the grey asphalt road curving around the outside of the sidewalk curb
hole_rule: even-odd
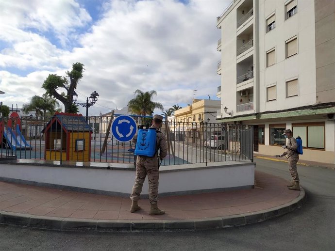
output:
[[[258,171],[289,179],[287,163],[255,159]],[[0,225],[2,251],[334,251],[335,171],[298,166],[304,206],[252,225],[199,232],[54,232]]]

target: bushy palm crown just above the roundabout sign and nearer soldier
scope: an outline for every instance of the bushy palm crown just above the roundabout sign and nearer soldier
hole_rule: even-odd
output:
[[[137,89],[134,94],[136,96],[128,102],[128,111],[137,115],[147,115],[155,109],[164,110],[161,103],[152,102],[153,95],[157,95],[156,91],[152,90],[144,93]]]

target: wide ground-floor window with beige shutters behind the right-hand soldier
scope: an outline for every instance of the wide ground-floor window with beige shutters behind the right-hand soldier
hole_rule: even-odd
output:
[[[302,147],[311,149],[325,149],[325,123],[297,123],[292,124],[293,137],[301,137]]]

